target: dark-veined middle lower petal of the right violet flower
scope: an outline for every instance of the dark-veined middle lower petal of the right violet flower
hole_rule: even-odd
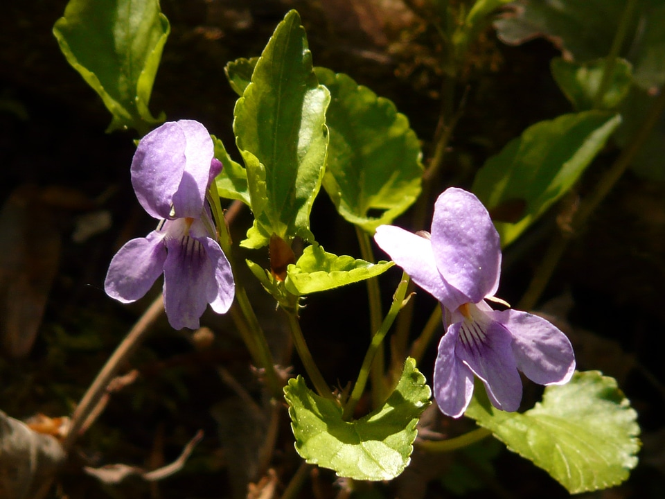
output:
[[[452,324],[448,331],[460,331],[456,345],[456,356],[470,367],[485,385],[493,405],[512,412],[520,408],[522,401],[522,379],[517,372],[511,347],[513,337],[499,322],[490,322],[481,341],[465,335],[464,322]]]

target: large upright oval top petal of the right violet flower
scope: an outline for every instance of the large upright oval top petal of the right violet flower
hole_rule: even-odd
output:
[[[477,303],[497,292],[499,234],[488,211],[472,193],[450,188],[438,197],[432,218],[432,249],[443,278],[463,292],[467,301]]]

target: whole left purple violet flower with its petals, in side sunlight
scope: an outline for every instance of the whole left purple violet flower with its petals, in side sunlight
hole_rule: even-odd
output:
[[[206,204],[222,170],[213,154],[210,134],[197,121],[164,123],[141,139],[132,186],[143,209],[160,222],[145,238],[121,247],[104,283],[109,297],[130,303],[163,273],[164,308],[175,329],[197,329],[207,304],[227,312],[236,292]]]

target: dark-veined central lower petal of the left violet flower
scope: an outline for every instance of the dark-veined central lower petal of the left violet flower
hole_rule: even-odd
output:
[[[215,270],[206,248],[193,237],[166,240],[164,310],[173,329],[197,329],[215,286]]]

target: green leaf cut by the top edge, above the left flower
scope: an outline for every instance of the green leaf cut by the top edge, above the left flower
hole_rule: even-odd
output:
[[[169,30],[158,0],[70,0],[55,22],[60,50],[113,115],[107,132],[164,121],[148,103]]]

